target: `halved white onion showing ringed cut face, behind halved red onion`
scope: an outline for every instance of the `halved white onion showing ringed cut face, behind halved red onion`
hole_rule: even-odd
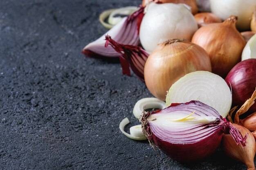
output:
[[[215,108],[222,117],[227,117],[232,104],[232,94],[222,77],[208,71],[186,74],[175,82],[166,96],[166,106],[198,100]]]

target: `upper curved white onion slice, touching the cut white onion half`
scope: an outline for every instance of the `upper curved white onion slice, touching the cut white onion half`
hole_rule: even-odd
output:
[[[160,99],[157,99],[155,97],[147,97],[144,99],[140,99],[133,108],[133,115],[141,121],[141,115],[142,112],[149,108],[158,108],[158,109],[164,109],[166,108],[166,103],[163,102]]]

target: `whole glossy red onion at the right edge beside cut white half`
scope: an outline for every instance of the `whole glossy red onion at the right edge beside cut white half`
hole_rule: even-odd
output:
[[[233,106],[242,106],[252,96],[256,87],[256,59],[247,59],[229,71],[225,81],[232,89]],[[229,84],[230,83],[230,84]],[[256,112],[256,103],[249,112]]]

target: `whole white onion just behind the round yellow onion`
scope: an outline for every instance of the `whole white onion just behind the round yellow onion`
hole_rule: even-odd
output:
[[[198,26],[184,4],[152,5],[142,19],[139,32],[141,45],[146,51],[152,52],[157,44],[173,38],[191,40]]]

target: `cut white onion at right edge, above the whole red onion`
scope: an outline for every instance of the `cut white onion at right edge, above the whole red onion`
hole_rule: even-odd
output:
[[[249,58],[256,58],[256,34],[246,43],[242,53],[242,61]]]

